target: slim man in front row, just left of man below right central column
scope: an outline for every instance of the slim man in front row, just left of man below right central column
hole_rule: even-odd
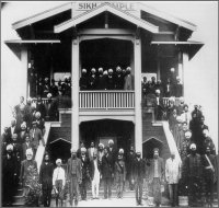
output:
[[[135,149],[131,146],[130,147],[130,152],[128,152],[127,155],[127,177],[128,177],[128,182],[129,182],[129,188],[130,190],[134,190],[134,175],[132,175],[132,169],[134,169],[134,164],[135,164],[135,159],[136,159],[136,153],[135,153]]]

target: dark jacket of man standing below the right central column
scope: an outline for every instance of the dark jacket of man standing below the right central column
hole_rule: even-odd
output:
[[[138,159],[135,159],[134,162],[134,166],[132,166],[132,176],[134,180],[143,180],[145,175],[146,175],[146,166],[145,166],[145,161],[142,159],[140,159],[138,161]]]

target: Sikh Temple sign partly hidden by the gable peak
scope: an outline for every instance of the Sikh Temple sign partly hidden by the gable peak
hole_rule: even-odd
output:
[[[89,11],[93,10],[97,5],[100,5],[103,2],[78,2],[76,7],[76,11]],[[114,7],[124,10],[124,11],[136,11],[135,4],[131,2],[108,2],[113,4]]]

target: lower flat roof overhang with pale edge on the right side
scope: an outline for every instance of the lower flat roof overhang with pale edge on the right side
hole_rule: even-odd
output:
[[[151,45],[159,47],[165,47],[166,45],[180,46],[183,51],[188,53],[189,59],[204,46],[201,42],[151,42]]]

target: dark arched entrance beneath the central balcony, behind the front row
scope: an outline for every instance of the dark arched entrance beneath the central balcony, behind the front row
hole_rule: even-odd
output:
[[[83,122],[80,125],[80,140],[89,148],[91,141],[97,147],[100,142],[104,146],[108,145],[108,140],[113,139],[117,150],[123,148],[125,154],[129,151],[130,146],[135,146],[135,127],[131,122],[102,119]]]

